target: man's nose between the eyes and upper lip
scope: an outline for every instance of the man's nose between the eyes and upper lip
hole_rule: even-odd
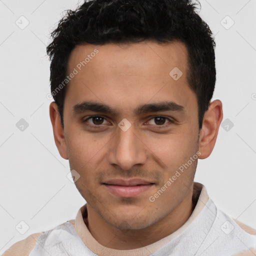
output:
[[[116,164],[124,170],[130,169],[135,164],[144,164],[146,161],[146,146],[136,134],[134,125],[124,131],[117,127],[116,135],[110,142],[108,162]]]

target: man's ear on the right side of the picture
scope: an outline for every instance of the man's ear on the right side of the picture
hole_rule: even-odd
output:
[[[222,103],[216,99],[210,102],[208,110],[204,113],[202,128],[199,134],[199,159],[207,158],[215,145],[218,128],[223,118]]]

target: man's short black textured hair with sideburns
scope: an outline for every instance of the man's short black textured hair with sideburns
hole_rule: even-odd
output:
[[[197,9],[191,0],[89,0],[75,10],[66,10],[46,48],[51,61],[51,94],[62,127],[66,86],[59,91],[56,88],[66,78],[68,57],[76,45],[178,40],[187,47],[187,80],[197,96],[201,129],[214,91],[216,69],[214,38]]]

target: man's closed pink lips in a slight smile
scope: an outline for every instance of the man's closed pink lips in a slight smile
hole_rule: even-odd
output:
[[[155,183],[143,179],[111,179],[102,183],[108,191],[119,197],[135,197],[150,189]]]

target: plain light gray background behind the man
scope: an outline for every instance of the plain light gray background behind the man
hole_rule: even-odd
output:
[[[29,234],[75,217],[85,203],[66,174],[49,118],[49,32],[77,0],[0,0],[0,253]],[[199,14],[215,34],[213,99],[234,126],[198,161],[195,180],[225,213],[256,228],[256,0],[201,0]],[[24,25],[20,29],[15,21]],[[234,24],[228,28],[232,23]],[[21,20],[21,21],[20,21]],[[221,21],[222,20],[222,21]],[[20,24],[21,25],[21,24]],[[224,26],[226,27],[224,27]],[[20,131],[24,118],[29,126]],[[225,127],[227,128],[227,126]],[[20,234],[23,220],[29,229]],[[19,224],[19,226],[24,224]],[[17,228],[18,229],[18,228]]]

